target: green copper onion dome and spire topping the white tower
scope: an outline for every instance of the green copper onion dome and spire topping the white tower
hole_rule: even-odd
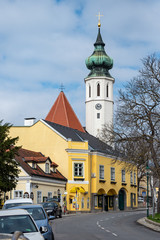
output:
[[[85,61],[87,68],[91,70],[88,77],[110,76],[108,70],[113,67],[113,60],[104,50],[105,44],[101,37],[100,28],[94,46],[93,54]]]

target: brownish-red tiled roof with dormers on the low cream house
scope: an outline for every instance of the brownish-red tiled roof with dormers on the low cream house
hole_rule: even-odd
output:
[[[48,178],[53,178],[53,179],[58,179],[62,181],[66,181],[67,179],[56,169],[56,172],[50,172],[50,173],[45,173],[38,165],[36,168],[32,168],[27,162],[44,162],[41,161],[42,159],[49,159],[49,157],[45,157],[42,153],[40,152],[34,152],[30,151],[24,148],[19,149],[18,155],[15,156],[16,161],[20,164],[20,166],[29,174],[29,175],[37,175],[41,177],[48,177]],[[31,160],[33,159],[33,160]],[[38,161],[39,159],[39,161]],[[51,161],[51,160],[50,160]],[[52,162],[52,161],[51,161]],[[55,164],[54,162],[51,163]],[[56,164],[55,164],[56,165]],[[58,165],[57,165],[58,166]]]

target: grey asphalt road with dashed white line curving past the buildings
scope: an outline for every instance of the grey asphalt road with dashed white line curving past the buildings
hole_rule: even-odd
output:
[[[136,221],[145,212],[90,213],[52,221],[55,240],[160,240],[160,233]]]

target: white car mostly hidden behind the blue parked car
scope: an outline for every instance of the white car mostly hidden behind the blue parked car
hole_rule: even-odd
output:
[[[33,201],[31,198],[9,199],[5,201],[2,209],[8,209],[8,208],[12,208],[12,207],[16,207],[24,204],[33,204]]]

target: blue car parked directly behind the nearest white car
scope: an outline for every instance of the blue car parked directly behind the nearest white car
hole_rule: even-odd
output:
[[[42,205],[33,204],[14,207],[14,209],[17,208],[25,209],[32,216],[45,240],[54,240],[54,234],[49,220],[53,220],[55,217],[48,217]]]

